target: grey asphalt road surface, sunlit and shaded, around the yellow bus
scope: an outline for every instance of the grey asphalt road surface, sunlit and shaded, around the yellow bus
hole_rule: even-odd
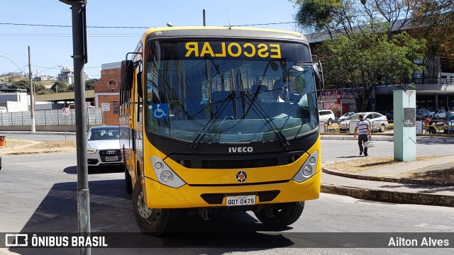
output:
[[[322,141],[326,161],[344,159],[341,152],[345,142]],[[452,145],[451,145],[452,146]],[[350,147],[350,146],[348,146]],[[392,142],[379,142],[376,148],[392,148]],[[421,152],[432,145],[420,145]],[[374,149],[376,149],[374,148]],[[438,149],[437,149],[438,148]],[[435,146],[434,153],[443,152]],[[355,148],[351,149],[351,153]],[[377,152],[378,153],[378,152]],[[348,159],[348,158],[345,158]],[[325,161],[325,159],[323,160]],[[0,232],[77,232],[76,157],[74,153],[24,155],[4,157],[0,171]],[[138,232],[133,220],[131,196],[124,192],[121,171],[89,174],[92,232]],[[441,216],[443,215],[443,216]],[[351,232],[454,232],[452,208],[395,205],[357,200],[344,196],[321,194],[318,200],[308,201],[303,216],[288,229],[267,234],[250,213],[213,215],[211,220],[199,216],[184,217],[180,234],[165,239],[140,235],[134,246],[158,246],[165,249],[92,249],[93,254],[414,254],[414,249],[344,249],[314,248],[316,240],[311,232],[331,233],[320,239],[336,239]],[[238,234],[245,229],[252,234]],[[208,232],[197,234],[197,232]],[[216,234],[216,233],[221,234]],[[226,233],[233,234],[226,234]],[[336,234],[339,233],[339,234]],[[450,234],[454,244],[453,234]],[[118,237],[121,242],[122,237]],[[124,237],[123,237],[124,239]],[[308,241],[309,239],[309,241]],[[372,238],[371,238],[372,239]],[[353,243],[344,245],[354,246]],[[184,247],[183,247],[184,246]],[[246,246],[243,249],[231,248]],[[262,248],[258,248],[258,247]],[[189,249],[188,249],[189,247]],[[286,249],[283,249],[286,248]],[[288,248],[288,249],[287,249]],[[10,249],[20,254],[77,254],[77,249]],[[418,254],[452,254],[453,249],[418,249]],[[1,254],[1,251],[0,251]]]

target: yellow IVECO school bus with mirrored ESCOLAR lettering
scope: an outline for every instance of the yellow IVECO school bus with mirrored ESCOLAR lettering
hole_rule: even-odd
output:
[[[142,232],[183,213],[250,210],[297,221],[319,198],[321,63],[299,33],[251,28],[145,31],[121,63],[126,190]]]

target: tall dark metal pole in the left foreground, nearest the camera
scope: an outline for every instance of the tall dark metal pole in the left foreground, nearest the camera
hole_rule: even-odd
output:
[[[76,110],[77,143],[77,223],[79,237],[90,237],[90,192],[87,166],[87,112],[85,111],[85,74],[87,63],[87,0],[60,0],[71,6],[72,59],[74,62],[74,103]],[[90,246],[79,247],[79,254],[92,254]]]

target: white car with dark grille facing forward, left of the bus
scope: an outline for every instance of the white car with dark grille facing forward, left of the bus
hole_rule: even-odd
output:
[[[90,128],[87,134],[87,164],[89,167],[124,164],[120,149],[118,126]]]

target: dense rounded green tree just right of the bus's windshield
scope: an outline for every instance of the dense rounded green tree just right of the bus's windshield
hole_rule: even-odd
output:
[[[348,84],[355,94],[356,111],[367,111],[372,91],[384,76],[395,80],[421,70],[412,60],[422,59],[425,40],[399,33],[341,35],[326,40],[318,49],[328,84]]]

